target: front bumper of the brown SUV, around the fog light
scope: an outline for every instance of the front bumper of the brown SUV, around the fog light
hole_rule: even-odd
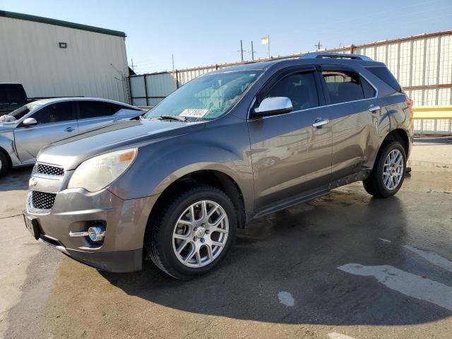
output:
[[[43,211],[30,208],[29,194],[24,215],[37,223],[40,241],[67,256],[102,270],[131,272],[141,270],[145,227],[157,198],[122,200],[107,189],[95,193],[66,189],[56,194],[52,208]],[[99,222],[105,227],[102,242],[69,235]]]

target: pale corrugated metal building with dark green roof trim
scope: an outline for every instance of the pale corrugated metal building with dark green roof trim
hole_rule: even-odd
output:
[[[28,97],[85,96],[129,102],[126,34],[0,11],[0,83]]]

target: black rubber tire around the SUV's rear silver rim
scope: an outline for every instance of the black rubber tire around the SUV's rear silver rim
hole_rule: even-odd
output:
[[[393,150],[399,150],[403,156],[403,174],[398,185],[394,189],[388,189],[383,182],[383,166],[389,153]],[[403,146],[398,141],[391,141],[383,146],[383,149],[375,160],[374,169],[372,169],[369,177],[362,182],[364,189],[375,198],[388,198],[389,196],[393,196],[403,184],[406,168],[407,157]]]

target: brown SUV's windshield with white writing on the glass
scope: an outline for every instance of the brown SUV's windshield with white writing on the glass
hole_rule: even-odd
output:
[[[144,117],[165,115],[185,117],[187,121],[216,119],[225,114],[256,81],[261,71],[235,71],[206,74],[186,83]]]

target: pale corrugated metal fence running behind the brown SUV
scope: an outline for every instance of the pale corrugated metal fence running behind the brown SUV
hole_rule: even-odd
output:
[[[324,52],[364,54],[384,62],[408,96],[414,100],[415,107],[452,105],[452,31],[350,45]],[[294,54],[278,59],[302,55]],[[236,64],[241,63],[131,76],[133,104],[156,105],[173,90],[196,76]],[[419,119],[415,121],[415,131],[452,133],[452,119]]]

